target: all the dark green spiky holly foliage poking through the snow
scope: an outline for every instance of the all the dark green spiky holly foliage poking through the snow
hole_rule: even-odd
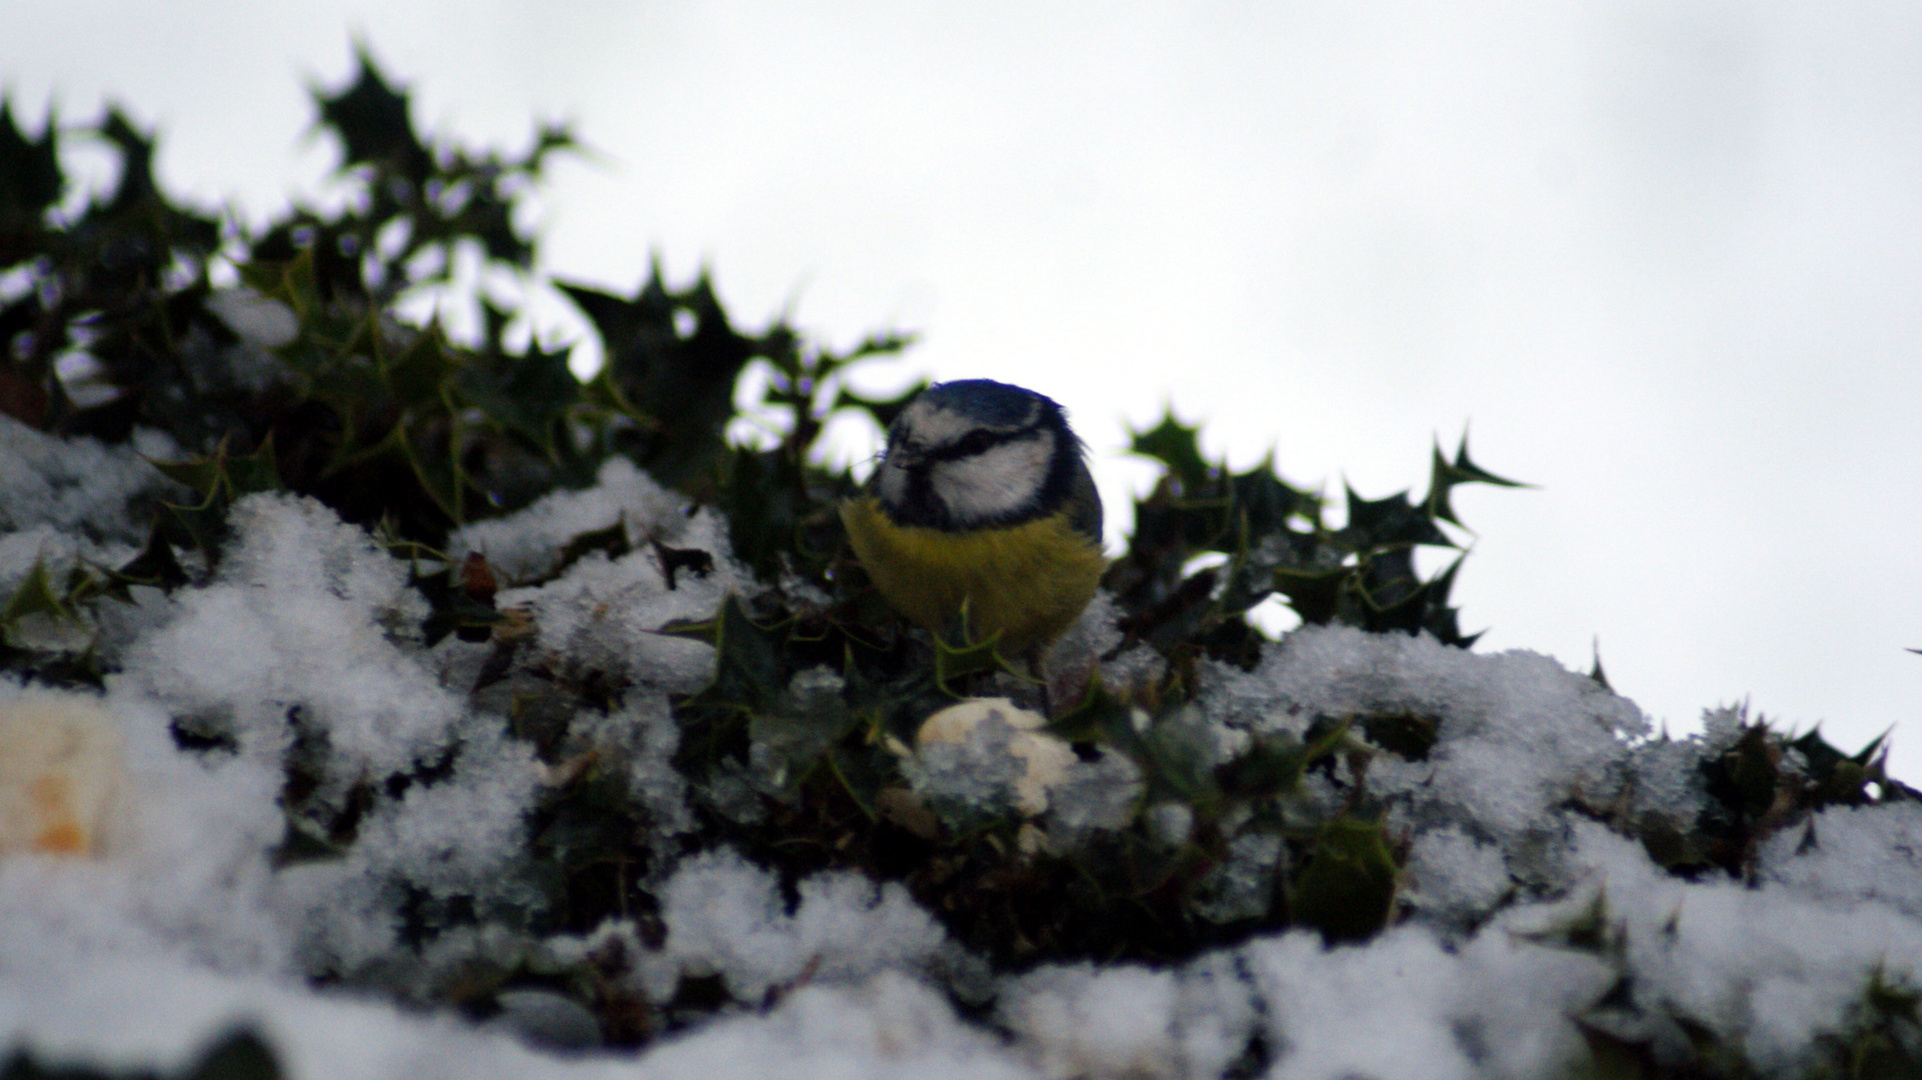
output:
[[[565,129],[538,131],[521,156],[440,144],[415,131],[407,94],[365,54],[350,85],[315,90],[315,106],[319,129],[342,148],[346,198],[329,202],[340,209],[296,208],[248,233],[167,200],[152,179],[152,140],[117,111],[92,129],[121,156],[117,184],[62,215],[52,121],[29,136],[0,102],[0,271],[25,282],[0,296],[0,409],[104,440],[146,425],[185,448],[183,459],[158,463],[185,494],[160,507],[140,553],[119,567],[38,565],[0,601],[8,671],[100,680],[98,605],[142,586],[204,580],[219,563],[233,502],[288,490],[365,525],[413,565],[431,605],[427,644],[486,644],[475,682],[456,690],[477,713],[505,717],[509,736],[540,761],[525,871],[542,905],[515,913],[530,934],[588,932],[609,919],[653,932],[648,890],[661,867],[717,846],[776,869],[786,884],[823,869],[903,882],[963,945],[999,965],[1174,963],[1261,930],[1307,926],[1328,942],[1359,942],[1395,920],[1407,838],[1386,824],[1368,767],[1424,761],[1440,721],[1417,711],[1315,717],[1299,738],[1249,736],[1220,763],[1205,746],[1195,694],[1205,661],[1259,661],[1267,638],[1247,615],[1270,596],[1307,625],[1426,632],[1470,648],[1474,634],[1459,630],[1449,600],[1461,559],[1426,578],[1415,559],[1418,548],[1459,548],[1445,528],[1463,527],[1455,488],[1516,486],[1476,465],[1466,438],[1453,457],[1434,450],[1418,500],[1343,488],[1343,525],[1332,527],[1324,500],[1280,479],[1272,461],[1236,473],[1172,415],[1136,432],[1132,450],[1163,475],[1136,502],[1134,534],[1103,584],[1122,613],[1126,640],[1115,651],[1147,646],[1165,663],[1128,686],[1040,686],[1011,671],[994,642],[905,628],[848,553],[834,507],[855,480],[828,467],[817,442],[836,413],[884,427],[923,388],[865,398],[848,386],[853,367],[898,354],[909,336],[832,352],[786,323],[744,329],[707,275],[677,286],[659,263],[630,296],[540,281],[517,208],[550,154],[573,146]],[[471,298],[473,340],[400,317],[421,298],[463,300],[452,282],[463,248],[529,290],[554,288],[575,304],[605,365],[580,380],[552,342],[511,346],[525,311],[486,294]],[[221,263],[244,290],[211,284]],[[744,380],[750,371],[761,379]],[[744,402],[748,384],[761,390]],[[738,438],[744,421],[763,438]],[[628,521],[559,544],[532,580],[502,580],[480,555],[456,563],[442,553],[450,528],[586,486],[613,457],[715,507],[728,552],[767,586],[730,598],[705,623],[667,630],[717,657],[713,680],[673,701],[673,767],[696,819],[673,849],[650,840],[653,811],[628,790],[627,749],[582,734],[582,717],[615,713],[644,688],[530,648],[532,617],[500,609],[496,592],[550,580],[594,553],[636,550],[675,588],[713,573],[723,553],[671,548]],[[1067,740],[1078,765],[1122,776],[1126,798],[1099,824],[1059,807],[1030,817],[930,798],[911,748],[921,723],[961,696],[1011,696],[1047,711],[1047,734]],[[375,805],[438,782],[459,753],[407,774],[329,784],[309,767],[315,736],[298,717],[292,726],[281,865],[338,857]],[[175,736],[200,749],[219,744],[192,717],[177,721]],[[1791,736],[1757,721],[1703,763],[1709,809],[1699,821],[1611,824],[1678,874],[1739,876],[1761,842],[1807,826],[1822,807],[1916,798],[1884,763],[1882,740],[1843,753],[1816,732]],[[407,940],[490,917],[459,901],[415,897]],[[1597,901],[1553,944],[1607,957],[1613,940]],[[529,963],[494,957],[436,999],[486,1011],[498,990],[538,980],[563,986],[632,1042],[738,1005],[690,986],[655,1015],[617,994],[619,980],[594,967],[602,961],[569,970]],[[367,972],[323,974],[381,986]],[[1832,1047],[1824,1076],[1907,1074],[1914,1001],[1910,988],[1868,988],[1860,1022]],[[1674,1072],[1647,1045],[1611,1036],[1605,1015],[1588,1020],[1589,1076],[1737,1074],[1732,1047],[1701,1042],[1695,1070]],[[1709,1038],[1686,1017],[1674,1024]],[[8,1076],[54,1074],[15,1061]]]

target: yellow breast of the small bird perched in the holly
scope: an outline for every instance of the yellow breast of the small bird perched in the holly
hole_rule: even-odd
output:
[[[976,640],[1003,655],[1053,642],[1094,598],[1107,559],[1067,515],[1009,528],[948,532],[896,525],[873,498],[842,503],[842,525],[875,588],[907,619],[942,634],[967,600]]]

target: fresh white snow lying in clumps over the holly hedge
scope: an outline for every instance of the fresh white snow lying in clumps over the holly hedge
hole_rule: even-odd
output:
[[[0,419],[0,584],[35,557],[131,555],[142,500],[167,494],[138,454],[165,450],[154,436],[113,450],[52,440]],[[742,855],[680,853],[675,842],[692,817],[671,767],[667,696],[700,688],[713,651],[655,630],[757,586],[711,509],[690,511],[623,461],[590,490],[457,532],[450,552],[482,552],[505,573],[498,601],[530,617],[532,648],[634,682],[623,709],[582,717],[571,738],[627,761],[625,782],[653,822],[646,844],[667,861],[652,884],[665,936],[648,944],[634,924],[609,922],[584,938],[536,938],[513,928],[509,915],[534,903],[513,871],[527,811],[554,778],[507,738],[502,715],[475,703],[484,696],[465,696],[486,646],[427,648],[407,567],[317,502],[248,496],[231,521],[206,584],[136,590],[133,607],[104,615],[104,659],[117,667],[104,696],[0,680],[0,1038],[42,1063],[177,1068],[252,1024],[290,1076],[329,1080],[1203,1078],[1238,1067],[1251,1042],[1276,1080],[1520,1080],[1580,1059],[1582,1015],[1657,1051],[1686,1045],[1670,1019],[1686,1017],[1762,1074],[1793,1076],[1816,1038],[1857,1020],[1872,976],[1922,984],[1916,805],[1814,815],[1764,844],[1755,888],[1680,880],[1570,807],[1691,821],[1703,799],[1695,763],[1730,744],[1732,713],[1670,742],[1632,701],[1547,657],[1347,628],[1294,632],[1247,673],[1209,667],[1199,707],[1163,721],[1163,734],[1226,761],[1322,717],[1438,721],[1426,761],[1378,755],[1368,769],[1407,863],[1403,920],[1367,944],[1330,949],[1294,930],[1174,967],[996,972],[899,884],[825,872],[796,884],[798,901],[784,897]],[[552,571],[573,536],[617,523],[630,553],[590,553],[521,584]],[[650,542],[705,550],[715,569],[669,582]],[[1113,640],[1113,617],[1097,601],[1076,634]],[[1153,667],[1138,655],[1113,663],[1117,680]],[[21,717],[37,717],[40,734],[12,723]],[[73,738],[42,738],[54,728]],[[175,728],[217,746],[181,749]],[[288,753],[323,807],[344,807],[369,778],[444,776],[375,799],[340,857],[277,865]],[[1007,798],[1007,761],[973,780],[948,774],[969,753],[940,757],[930,792]],[[1040,826],[1057,840],[1113,826],[1136,792],[1132,765],[1115,757],[1071,765]],[[33,798],[48,778],[88,792],[60,813],[85,826],[92,855],[33,840],[46,824],[35,815],[52,813]],[[1311,796],[1338,798],[1324,778],[1307,782]],[[1190,828],[1172,803],[1149,821],[1169,844]],[[1220,871],[1226,911],[1263,896],[1276,855],[1245,838]],[[411,947],[404,907],[456,897],[504,917]],[[1603,947],[1572,947],[1568,926],[1597,915]],[[538,992],[509,1009],[519,1024],[396,1005],[471,957],[525,955],[557,970],[615,947],[646,1001],[719,978],[755,1007],[623,1055],[517,1038],[567,1042],[557,1028],[579,1028]],[[315,988],[315,976],[386,994]]]

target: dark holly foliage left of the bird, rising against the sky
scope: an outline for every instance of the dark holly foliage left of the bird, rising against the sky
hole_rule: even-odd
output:
[[[213,217],[158,190],[152,142],[117,111],[96,127],[121,154],[117,186],[73,219],[52,215],[65,184],[52,123],[33,140],[0,113],[0,269],[31,281],[0,307],[0,407],[60,434],[123,440],[136,423],[156,427],[202,469],[215,454],[240,461],[271,448],[275,482],[258,486],[311,494],[432,548],[454,525],[590,482],[613,454],[719,496],[736,465],[721,438],[734,380],[763,359],[784,377],[773,404],[801,413],[786,469],[740,463],[765,496],[738,500],[765,507],[742,546],[775,573],[776,548],[838,494],[794,467],[825,413],[855,404],[830,396],[838,369],[903,340],[842,357],[784,325],[742,334],[705,279],[677,292],[659,273],[632,302],[561,286],[607,344],[609,363],[586,386],[561,352],[507,348],[515,313],[486,296],[475,344],[434,323],[407,327],[396,304],[444,292],[463,246],[525,277],[534,242],[517,233],[515,208],[573,138],[542,129],[519,158],[431,144],[365,54],[350,86],[315,100],[319,127],[342,146],[342,209],[296,208],[256,236],[229,229],[225,244]],[[217,259],[256,300],[215,296]],[[246,327],[261,319],[284,323],[284,336]],[[60,361],[69,354],[85,359]],[[809,411],[815,392],[826,398]],[[181,525],[204,528],[217,509]]]

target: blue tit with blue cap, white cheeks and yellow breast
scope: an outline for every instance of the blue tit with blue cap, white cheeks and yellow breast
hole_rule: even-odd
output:
[[[1038,651],[1094,598],[1101,496],[1086,448],[1053,400],[994,382],[940,382],[888,427],[865,492],[842,503],[855,555],[880,596],[934,634],[999,634]]]

